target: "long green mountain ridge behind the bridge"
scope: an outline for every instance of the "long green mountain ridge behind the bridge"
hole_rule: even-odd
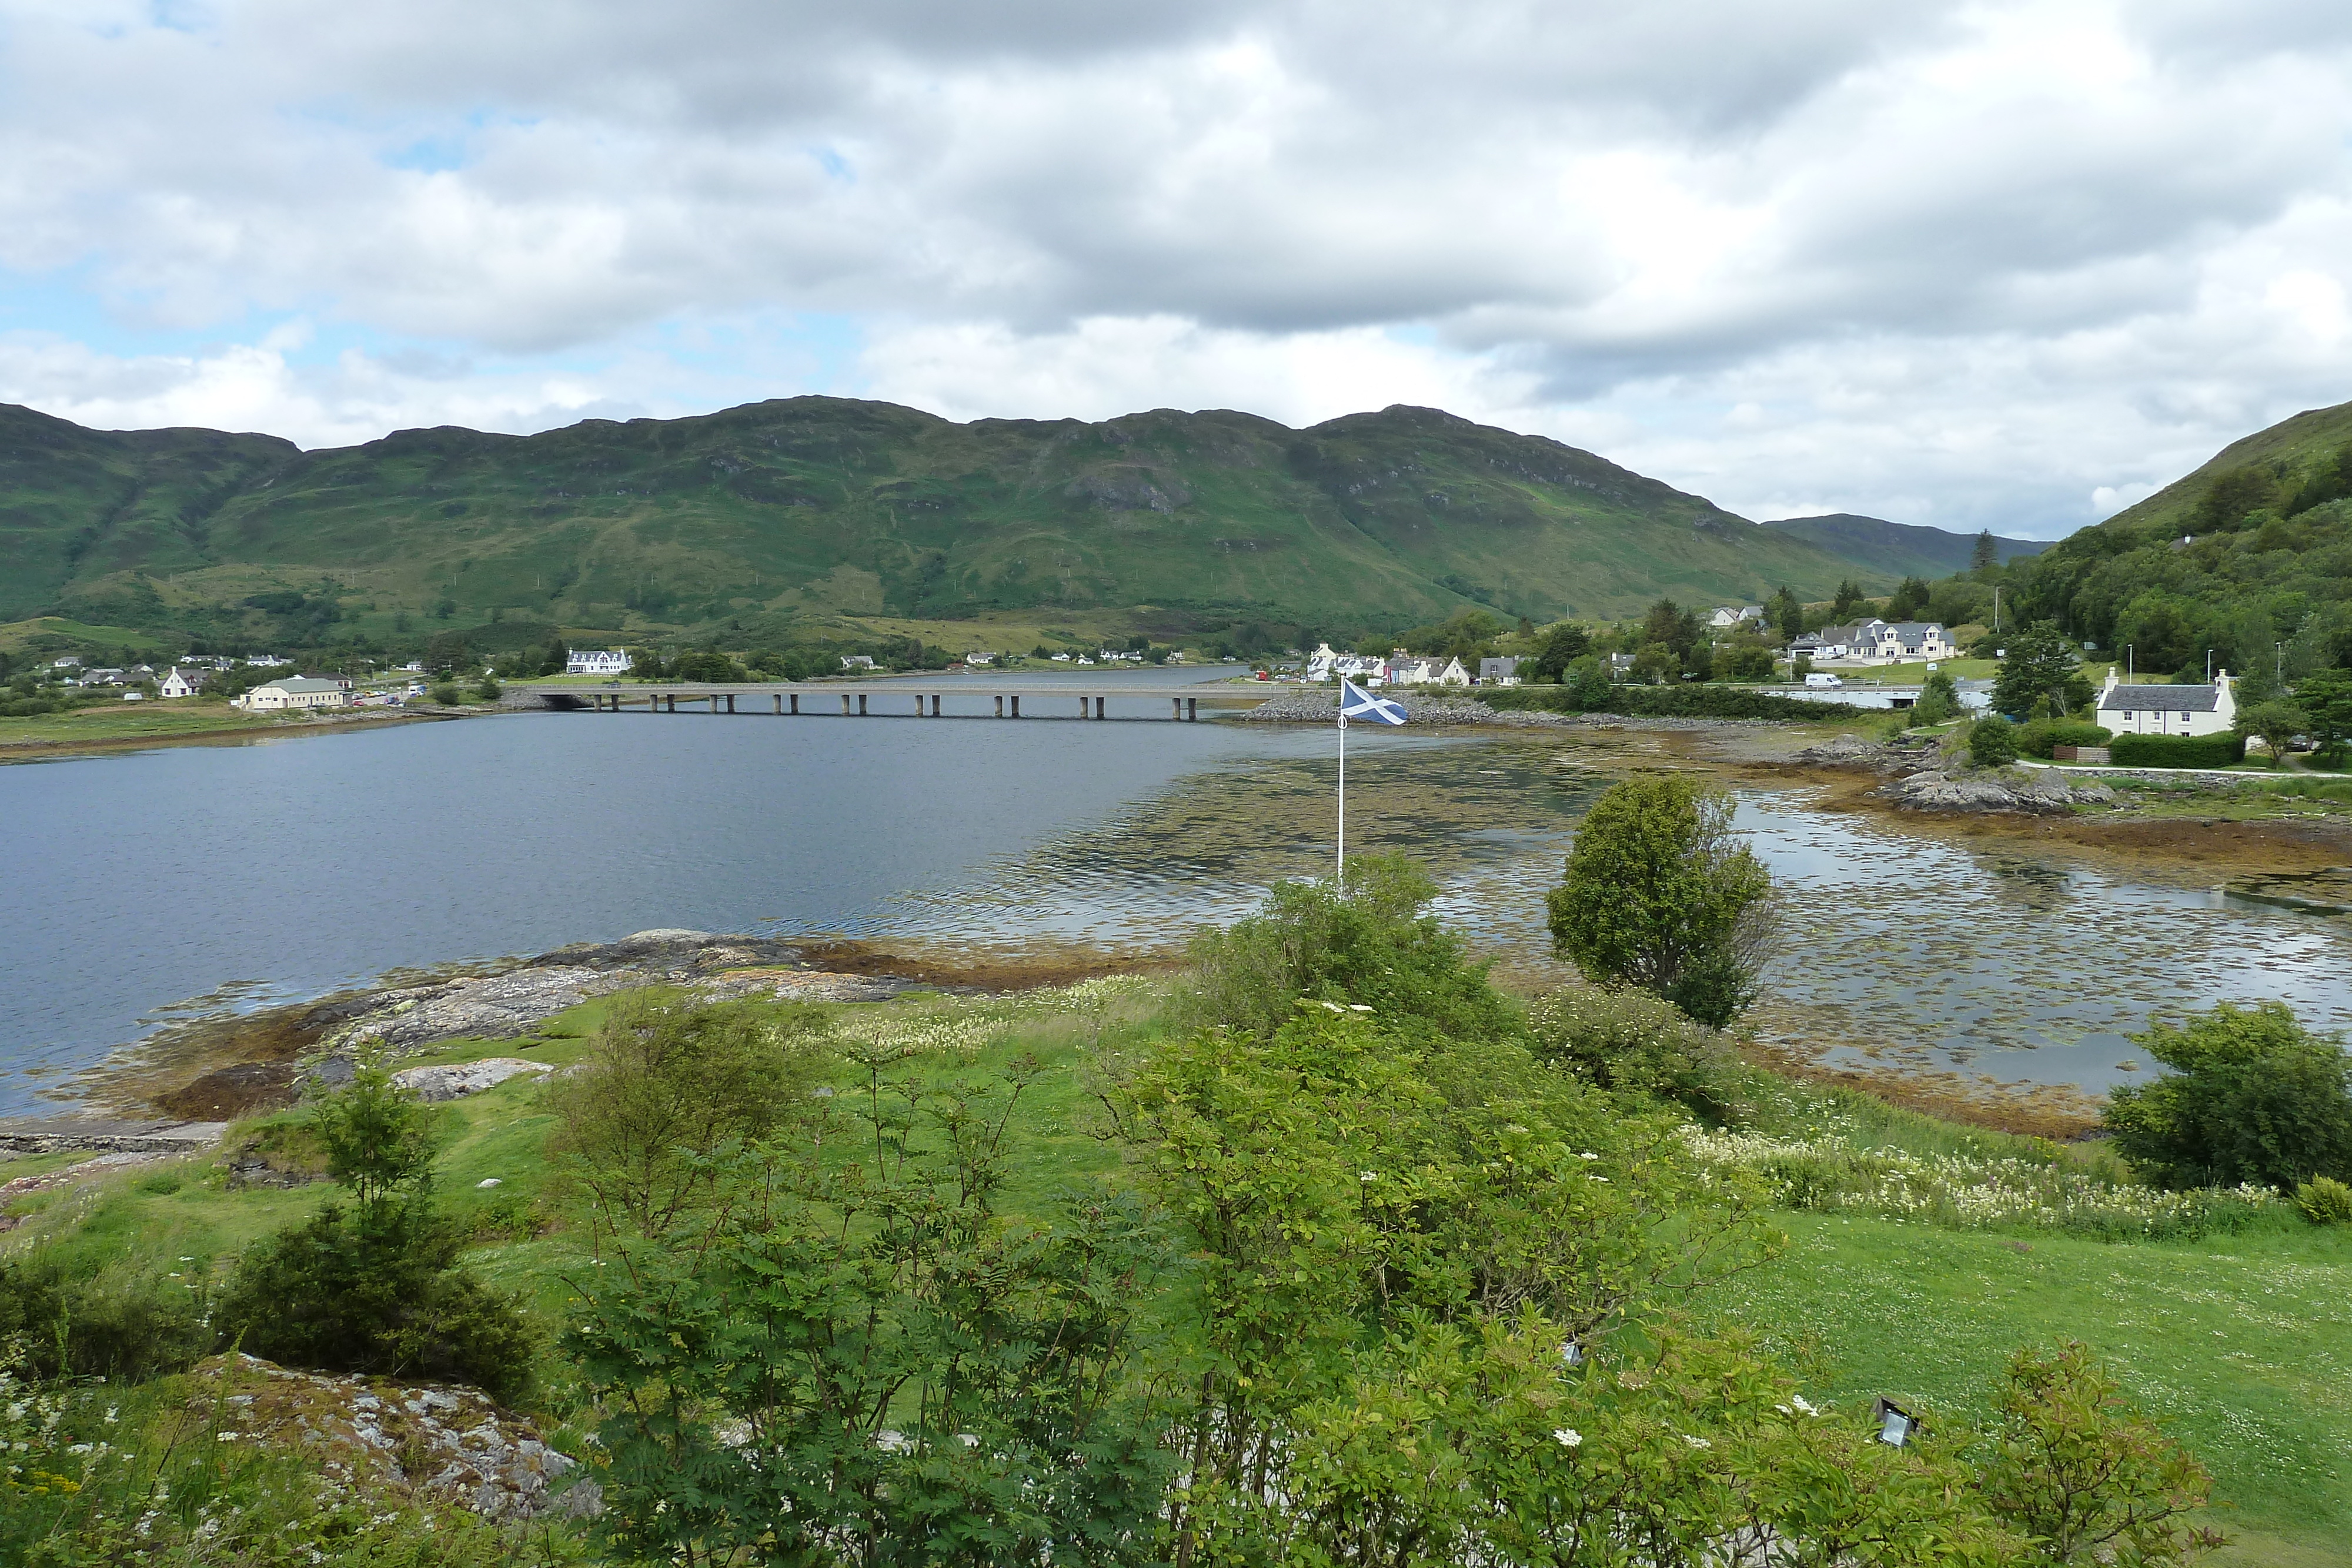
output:
[[[1851,574],[1590,451],[1411,407],[1289,430],[790,397],[332,451],[0,407],[0,621],[191,628],[353,595],[381,616],[614,630],[1124,607],[1550,621],[1783,583],[1823,597]]]

